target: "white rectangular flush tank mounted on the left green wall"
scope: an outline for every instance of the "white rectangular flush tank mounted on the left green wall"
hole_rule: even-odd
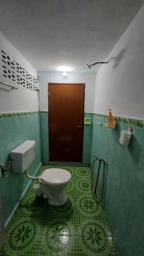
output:
[[[26,140],[11,151],[12,172],[25,172],[35,157],[35,148],[36,142],[34,140]]]

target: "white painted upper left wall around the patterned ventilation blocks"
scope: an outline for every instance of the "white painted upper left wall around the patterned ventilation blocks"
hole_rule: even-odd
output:
[[[0,51],[1,49],[7,52],[12,60],[17,61],[21,67],[25,68],[31,75],[37,78],[37,71],[0,32]],[[17,85],[16,81],[14,82],[9,78],[4,77],[2,74],[2,65],[4,65],[2,59],[0,60],[0,65],[0,81],[18,87],[18,90],[11,90],[0,83],[0,113],[36,111],[37,92]]]

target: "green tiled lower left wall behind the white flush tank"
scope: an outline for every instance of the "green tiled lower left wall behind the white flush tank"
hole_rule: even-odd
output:
[[[29,174],[33,175],[40,165],[40,144],[38,114],[13,115],[0,119],[0,163],[8,167],[10,152],[25,140],[36,141],[36,156],[29,167]],[[25,174],[10,173],[3,178],[0,173],[0,193],[2,199],[3,216],[5,223],[10,218],[15,206],[25,191],[29,179]]]

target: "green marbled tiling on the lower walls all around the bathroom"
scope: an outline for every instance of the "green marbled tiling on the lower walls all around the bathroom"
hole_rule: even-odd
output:
[[[119,136],[121,130],[127,130],[129,126],[127,120],[117,119],[116,129],[111,130],[101,125],[107,122],[106,116],[85,113],[85,117],[91,117],[91,125],[84,125],[83,164],[89,164],[91,161],[92,165],[93,156],[103,158],[108,163],[105,172],[103,206],[107,212],[119,255],[143,255],[144,129],[142,123],[140,122],[139,125],[139,122],[135,121],[131,124],[133,134],[130,145],[124,147],[119,144]],[[43,162],[49,163],[47,112],[41,112],[40,119]],[[0,137],[0,162],[5,167],[8,167],[9,154],[13,148],[27,139],[36,140],[36,157],[29,168],[29,173],[33,175],[40,164],[38,114],[25,113],[25,115],[0,117]],[[97,171],[98,162],[95,162],[94,179]],[[100,195],[102,176],[101,169],[98,184]],[[23,174],[11,173],[8,179],[0,177],[5,222],[12,214],[28,183],[29,180]]]

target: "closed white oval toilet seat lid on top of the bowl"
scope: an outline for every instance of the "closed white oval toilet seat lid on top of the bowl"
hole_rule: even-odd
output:
[[[71,174],[60,168],[45,169],[44,173],[40,177],[41,181],[50,184],[64,184],[71,179]]]

